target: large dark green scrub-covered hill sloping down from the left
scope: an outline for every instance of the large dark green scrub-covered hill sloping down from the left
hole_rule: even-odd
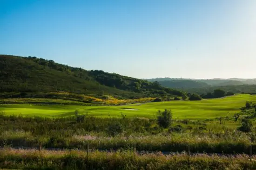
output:
[[[36,57],[0,55],[0,93],[72,92],[119,98],[182,96],[157,82],[98,70],[87,71]]]

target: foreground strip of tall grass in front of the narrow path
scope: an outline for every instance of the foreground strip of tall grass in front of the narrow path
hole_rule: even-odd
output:
[[[50,170],[252,170],[256,157],[185,153],[162,155],[135,151],[0,150],[0,168]]]

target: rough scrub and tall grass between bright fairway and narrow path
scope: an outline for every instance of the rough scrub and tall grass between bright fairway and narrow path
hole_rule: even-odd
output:
[[[0,146],[78,148],[99,150],[183,151],[209,153],[256,153],[255,129],[245,133],[226,128],[212,129],[198,121],[162,121],[145,118],[94,118],[74,112],[73,117],[40,118],[0,115]],[[161,119],[162,120],[162,119]]]

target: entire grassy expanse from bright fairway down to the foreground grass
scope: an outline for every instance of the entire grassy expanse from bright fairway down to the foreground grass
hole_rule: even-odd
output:
[[[241,112],[247,101],[256,102],[256,95],[128,105],[18,100],[25,104],[0,105],[0,168],[256,168],[256,128],[239,130],[243,118],[256,124],[253,107]],[[164,109],[172,113],[168,127],[159,124],[156,114]],[[235,113],[241,114],[237,121]]]

